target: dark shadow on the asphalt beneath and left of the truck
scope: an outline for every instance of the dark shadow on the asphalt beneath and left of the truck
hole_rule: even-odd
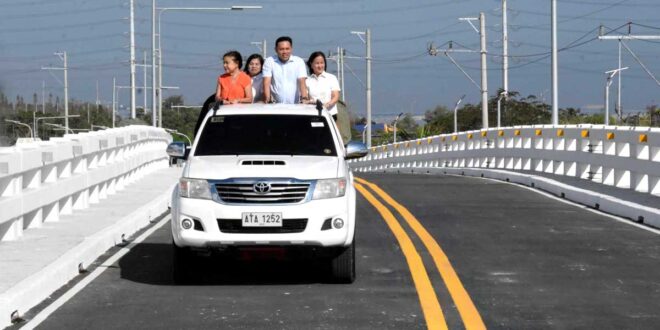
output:
[[[326,283],[327,262],[277,255],[196,256],[186,285],[274,285]],[[177,285],[172,278],[172,246],[141,243],[119,261],[121,278],[150,285]]]

